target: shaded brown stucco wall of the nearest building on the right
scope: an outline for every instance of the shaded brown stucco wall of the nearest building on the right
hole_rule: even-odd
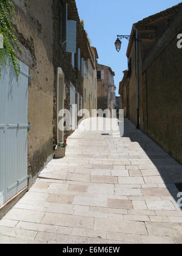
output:
[[[177,37],[175,37],[146,71],[148,129],[145,130],[180,163],[182,163],[181,54],[182,49],[177,48]]]

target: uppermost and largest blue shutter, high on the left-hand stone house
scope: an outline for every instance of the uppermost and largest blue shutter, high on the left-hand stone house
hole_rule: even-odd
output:
[[[66,51],[76,53],[76,21],[67,21]]]

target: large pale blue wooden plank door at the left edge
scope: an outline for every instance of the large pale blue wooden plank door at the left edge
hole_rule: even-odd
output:
[[[29,68],[2,66],[0,79],[0,206],[27,186]]]

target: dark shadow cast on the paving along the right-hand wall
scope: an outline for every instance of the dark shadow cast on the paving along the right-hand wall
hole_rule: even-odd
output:
[[[172,197],[176,202],[179,202],[180,197],[182,197],[182,193],[181,196],[178,194],[180,191],[182,192],[182,166],[180,163],[167,154],[146,134],[137,130],[135,125],[128,119],[124,119],[123,137],[130,138],[130,141],[140,144],[147,157],[160,172],[160,176]],[[180,197],[177,197],[177,195]],[[180,202],[182,203],[182,200]],[[182,210],[182,207],[180,208]]]

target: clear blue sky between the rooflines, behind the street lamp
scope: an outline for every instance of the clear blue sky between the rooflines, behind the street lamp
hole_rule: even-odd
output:
[[[119,82],[127,69],[127,40],[121,51],[115,50],[116,35],[130,35],[132,24],[147,16],[179,4],[179,0],[76,0],[80,20],[84,20],[92,46],[99,55],[98,63],[110,66],[115,72],[118,95]]]

